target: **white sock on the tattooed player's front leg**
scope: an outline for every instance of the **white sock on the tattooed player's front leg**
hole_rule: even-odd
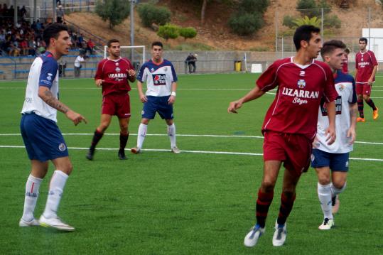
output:
[[[53,173],[50,179],[48,199],[43,213],[45,218],[57,216],[58,205],[60,204],[61,195],[63,195],[67,179],[68,175],[60,170],[55,170]]]

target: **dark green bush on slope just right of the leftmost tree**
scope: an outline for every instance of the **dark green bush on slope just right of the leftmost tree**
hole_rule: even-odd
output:
[[[152,4],[140,4],[137,11],[142,24],[147,28],[150,28],[152,23],[161,26],[171,21],[171,11],[166,7],[153,6]]]

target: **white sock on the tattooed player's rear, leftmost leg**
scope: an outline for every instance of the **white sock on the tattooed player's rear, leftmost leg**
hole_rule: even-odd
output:
[[[22,218],[27,222],[34,218],[33,212],[35,211],[38,198],[38,189],[40,188],[42,181],[43,179],[34,177],[33,175],[29,175],[28,180],[26,180],[26,194]]]

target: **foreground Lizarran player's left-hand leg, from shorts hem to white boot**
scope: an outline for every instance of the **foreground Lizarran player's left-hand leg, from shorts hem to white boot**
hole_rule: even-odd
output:
[[[274,187],[278,178],[281,161],[264,161],[264,176],[262,178],[261,187],[258,190],[258,198],[256,205],[257,223],[252,227],[246,237],[244,237],[244,245],[248,247],[255,246],[259,237],[264,234],[266,226],[266,217],[269,207],[274,197]]]

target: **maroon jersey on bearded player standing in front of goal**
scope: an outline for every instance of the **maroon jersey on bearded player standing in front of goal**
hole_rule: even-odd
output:
[[[130,61],[126,58],[109,60],[105,58],[97,65],[95,80],[102,79],[102,95],[111,93],[125,94],[131,87],[128,80],[128,71],[133,69]]]

